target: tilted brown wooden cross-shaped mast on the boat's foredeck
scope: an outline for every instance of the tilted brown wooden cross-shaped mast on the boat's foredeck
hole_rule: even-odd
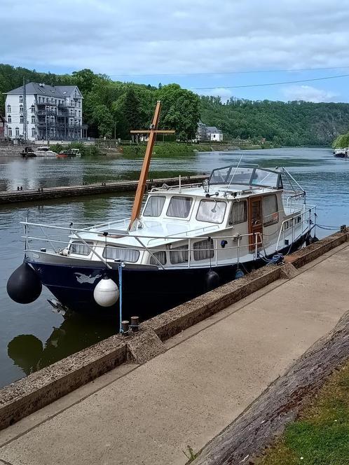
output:
[[[153,153],[153,146],[156,141],[156,134],[175,134],[175,131],[172,130],[158,130],[158,122],[160,118],[160,109],[161,109],[161,102],[158,100],[156,102],[156,108],[153,116],[153,121],[151,122],[149,130],[132,130],[130,131],[131,134],[149,134],[148,144],[146,144],[146,153],[144,155],[142,171],[139,176],[138,186],[135,195],[135,201],[133,202],[132,213],[131,213],[131,220],[128,229],[132,228],[133,223],[135,220],[139,218],[139,213],[142,207],[142,200],[144,191],[146,188],[146,179],[148,179],[149,173],[149,165],[151,160],[151,154]]]

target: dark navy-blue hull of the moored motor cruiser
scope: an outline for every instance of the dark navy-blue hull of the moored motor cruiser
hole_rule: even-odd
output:
[[[306,238],[306,233],[292,245],[298,249]],[[290,247],[283,251],[287,253]],[[105,268],[72,267],[28,261],[39,275],[41,282],[53,296],[76,312],[98,312],[108,314],[118,312],[118,302],[113,307],[101,307],[93,298],[97,282],[104,275]],[[243,263],[240,269],[249,272],[265,265],[261,259]],[[220,284],[235,279],[237,265],[212,267],[219,275]],[[123,268],[123,317],[139,316],[142,320],[153,317],[159,312],[169,310],[176,305],[191,300],[207,292],[206,275],[208,268],[182,270],[139,270]],[[118,284],[118,270],[109,270],[109,277]]]

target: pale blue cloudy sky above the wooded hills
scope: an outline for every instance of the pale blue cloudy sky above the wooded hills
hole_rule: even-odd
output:
[[[349,76],[322,80],[349,75],[349,1],[1,0],[0,24],[0,62],[16,67],[223,100],[349,102]]]

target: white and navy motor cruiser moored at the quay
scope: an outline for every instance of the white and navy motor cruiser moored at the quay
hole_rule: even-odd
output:
[[[294,177],[242,158],[203,183],[183,186],[179,177],[177,186],[152,188],[141,209],[157,126],[154,116],[130,218],[22,223],[24,263],[8,280],[13,300],[32,302],[43,285],[61,308],[114,314],[120,306],[123,317],[146,319],[311,239],[316,209]]]

